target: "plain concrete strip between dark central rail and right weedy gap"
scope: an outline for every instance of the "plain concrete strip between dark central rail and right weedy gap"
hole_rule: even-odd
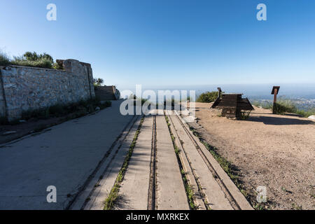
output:
[[[158,210],[189,210],[186,190],[165,116],[157,116],[156,130]]]

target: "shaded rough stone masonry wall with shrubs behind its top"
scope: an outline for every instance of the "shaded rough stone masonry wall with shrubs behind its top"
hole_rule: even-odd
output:
[[[91,65],[60,61],[64,70],[0,66],[0,116],[14,120],[22,111],[95,97]]]

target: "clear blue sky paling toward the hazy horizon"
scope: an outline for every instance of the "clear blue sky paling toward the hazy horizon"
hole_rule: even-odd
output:
[[[256,19],[258,3],[267,21]],[[315,83],[311,0],[1,0],[0,8],[1,50],[90,62],[106,85]]]

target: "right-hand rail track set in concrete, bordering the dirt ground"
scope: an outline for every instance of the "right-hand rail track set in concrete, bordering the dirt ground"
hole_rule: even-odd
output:
[[[180,156],[182,158],[181,161],[186,164],[186,172],[192,174],[188,178],[192,180],[193,185],[197,186],[194,188],[194,194],[199,198],[202,197],[202,202],[204,202],[203,205],[200,201],[196,200],[195,203],[198,208],[252,209],[245,197],[239,192],[235,184],[232,183],[228,174],[224,172],[207,148],[190,131],[188,125],[179,116],[179,113],[176,111],[166,111],[165,113],[170,120],[171,130],[176,132],[176,136],[179,138],[177,144],[182,149],[180,154],[183,154]],[[185,162],[185,160],[188,162]],[[208,176],[209,178],[206,179],[204,176]]]

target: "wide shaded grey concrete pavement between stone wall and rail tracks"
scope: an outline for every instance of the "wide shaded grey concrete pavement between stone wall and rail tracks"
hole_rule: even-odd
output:
[[[0,209],[65,209],[133,116],[121,101],[0,148]],[[57,203],[48,203],[48,186]]]

